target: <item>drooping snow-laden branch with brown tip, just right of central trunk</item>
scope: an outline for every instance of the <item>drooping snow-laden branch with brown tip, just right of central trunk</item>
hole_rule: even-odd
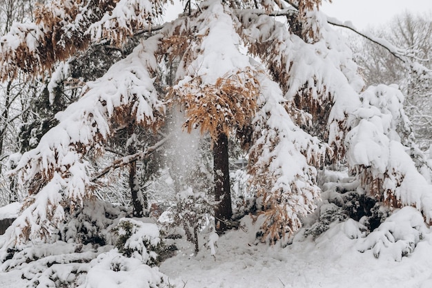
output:
[[[292,122],[275,82],[264,76],[259,83],[262,94],[252,122],[255,139],[248,169],[255,175],[251,182],[257,195],[263,198],[264,239],[274,242],[285,233],[291,236],[302,225],[300,217],[316,208],[320,189],[311,164],[324,160],[327,146]]]

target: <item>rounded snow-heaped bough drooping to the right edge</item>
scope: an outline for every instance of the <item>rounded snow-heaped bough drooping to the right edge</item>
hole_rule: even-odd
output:
[[[409,147],[401,144],[409,131],[402,93],[392,86],[371,86],[360,99],[346,135],[348,166],[369,195],[390,207],[416,207],[430,222],[432,186],[416,169]]]

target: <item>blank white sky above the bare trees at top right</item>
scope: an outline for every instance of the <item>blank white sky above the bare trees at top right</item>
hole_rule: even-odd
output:
[[[329,17],[351,21],[356,28],[381,26],[405,10],[432,12],[432,0],[324,0],[321,10]]]

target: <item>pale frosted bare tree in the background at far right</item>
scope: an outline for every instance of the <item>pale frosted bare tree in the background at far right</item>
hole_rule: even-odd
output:
[[[422,149],[431,140],[431,68],[432,68],[432,12],[397,15],[385,28],[370,30],[373,35],[388,39],[418,59],[421,66],[407,66],[391,55],[386,48],[362,37],[353,37],[353,50],[362,68],[366,84],[397,84],[406,95],[405,111],[413,124],[413,131]],[[422,67],[423,66],[423,67]],[[426,68],[426,69],[425,69]]]

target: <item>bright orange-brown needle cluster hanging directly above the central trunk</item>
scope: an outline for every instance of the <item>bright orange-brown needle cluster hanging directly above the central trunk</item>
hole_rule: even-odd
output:
[[[184,107],[188,132],[201,126],[202,133],[208,131],[215,139],[219,133],[229,135],[233,128],[243,127],[255,115],[259,84],[247,70],[219,78],[213,85],[202,84],[197,76],[169,94]]]

